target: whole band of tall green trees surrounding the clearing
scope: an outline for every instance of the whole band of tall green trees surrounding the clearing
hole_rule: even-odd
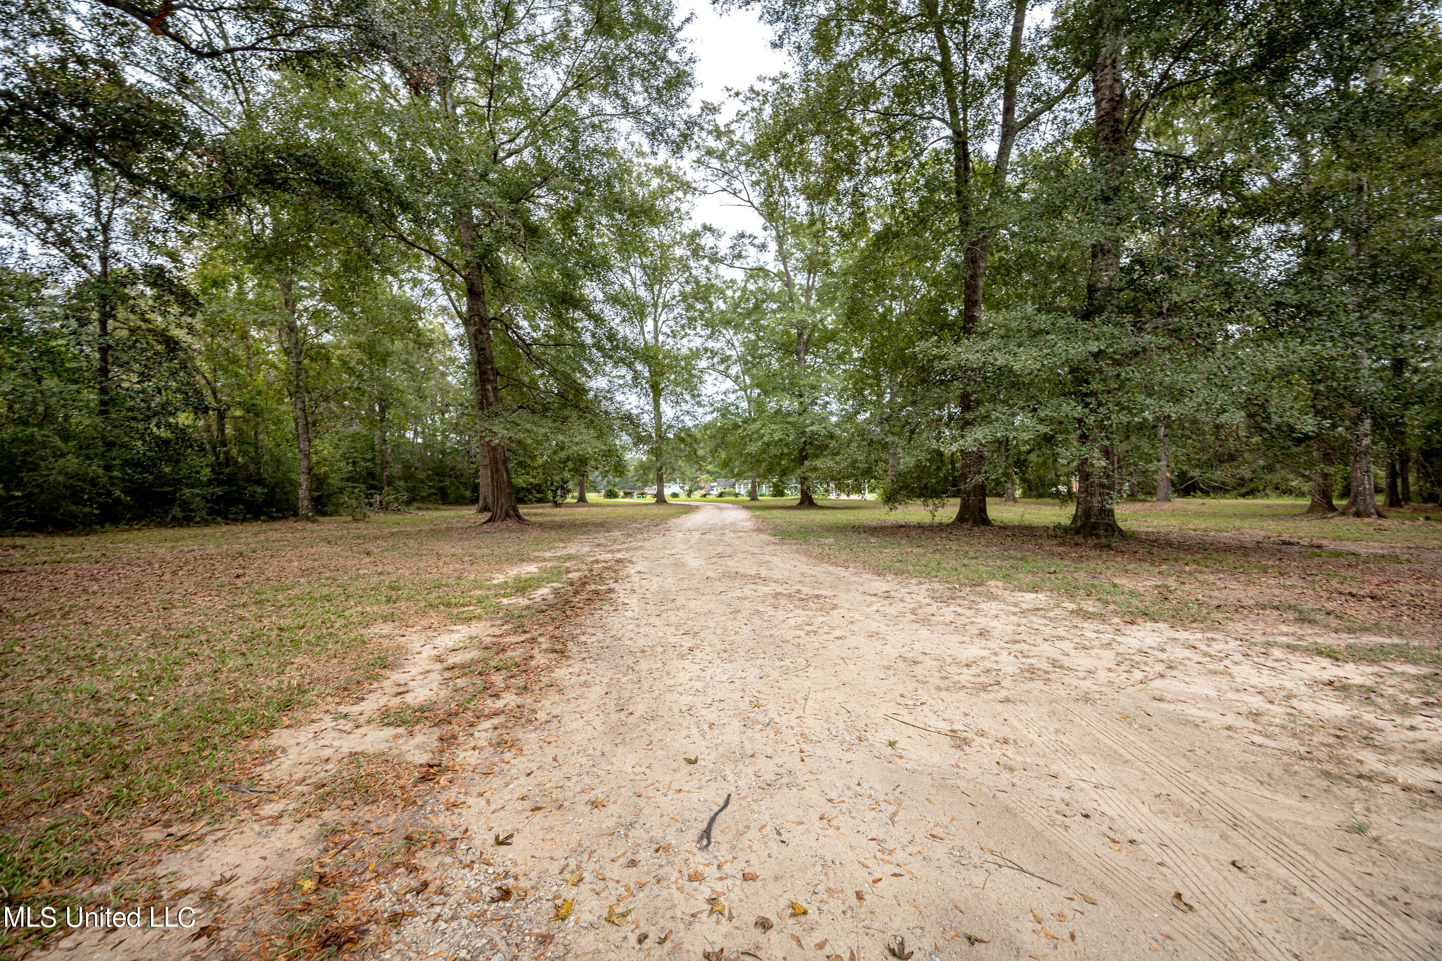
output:
[[[0,0],[0,527],[1439,500],[1433,4],[721,6]]]

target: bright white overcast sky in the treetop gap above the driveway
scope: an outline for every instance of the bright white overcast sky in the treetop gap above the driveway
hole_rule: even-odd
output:
[[[684,13],[695,14],[686,36],[696,55],[695,101],[725,101],[725,88],[744,89],[760,75],[779,73],[786,58],[771,49],[771,30],[754,14],[741,10],[718,14],[709,0],[679,0]],[[730,206],[721,197],[701,197],[695,219],[721,228],[727,233],[756,231],[756,216]]]

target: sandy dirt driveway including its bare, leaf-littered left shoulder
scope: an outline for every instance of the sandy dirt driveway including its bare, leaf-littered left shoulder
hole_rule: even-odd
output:
[[[737,506],[568,550],[624,573],[526,680],[477,687],[495,624],[399,635],[153,869],[203,928],[52,957],[294,955],[297,899],[397,961],[1442,957],[1432,669],[858,573]],[[365,758],[423,807],[327,794]]]

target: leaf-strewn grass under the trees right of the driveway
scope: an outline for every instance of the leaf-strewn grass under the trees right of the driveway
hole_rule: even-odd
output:
[[[952,527],[908,504],[795,499],[751,504],[766,529],[835,563],[959,588],[1047,592],[1102,617],[1237,628],[1383,634],[1390,654],[1433,663],[1442,640],[1442,523],[1308,520],[1293,500],[1129,501],[1129,537],[1089,543],[1057,532],[1056,501],[988,501],[996,527]],[[1438,511],[1442,514],[1442,511]],[[1373,645],[1376,654],[1377,645]],[[1364,656],[1360,648],[1355,656]]]

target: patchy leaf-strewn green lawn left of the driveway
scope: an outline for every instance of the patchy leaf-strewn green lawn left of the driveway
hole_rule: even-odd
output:
[[[138,853],[136,831],[231,804],[238,749],[378,677],[388,635],[522,618],[578,537],[688,507],[467,509],[0,540],[0,885],[62,885]],[[509,568],[535,571],[495,581]]]

